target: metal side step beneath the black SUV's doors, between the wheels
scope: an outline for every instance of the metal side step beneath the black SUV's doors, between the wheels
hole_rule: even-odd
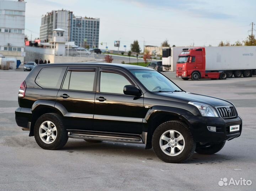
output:
[[[99,141],[114,141],[143,144],[142,138],[137,136],[111,135],[111,134],[96,134],[96,133],[81,133],[68,132],[68,137],[75,139],[89,139]]]

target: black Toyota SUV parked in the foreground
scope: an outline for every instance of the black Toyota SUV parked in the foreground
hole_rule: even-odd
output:
[[[18,92],[16,123],[48,150],[68,138],[153,147],[164,162],[213,154],[239,137],[242,119],[226,100],[183,91],[146,67],[111,63],[40,64]]]

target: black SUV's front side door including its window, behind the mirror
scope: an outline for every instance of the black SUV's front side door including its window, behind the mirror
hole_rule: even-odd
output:
[[[125,95],[125,85],[135,85],[125,72],[104,67],[98,71],[94,115],[96,131],[142,133],[144,97]]]

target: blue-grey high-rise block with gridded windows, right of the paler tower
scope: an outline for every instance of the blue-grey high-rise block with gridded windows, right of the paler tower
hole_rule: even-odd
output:
[[[75,17],[70,14],[70,41],[80,47],[98,48],[100,30],[99,18]]]

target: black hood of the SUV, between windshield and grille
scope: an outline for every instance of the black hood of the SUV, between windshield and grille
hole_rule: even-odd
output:
[[[231,102],[226,100],[222,100],[216,97],[211,97],[206,95],[193,94],[190,92],[159,92],[157,94],[165,97],[170,97],[172,99],[182,99],[188,102],[193,101],[193,102],[206,103],[213,107],[233,105]]]

